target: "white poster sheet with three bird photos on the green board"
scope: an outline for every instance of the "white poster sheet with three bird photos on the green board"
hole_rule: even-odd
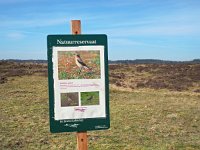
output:
[[[53,47],[55,120],[106,117],[104,46]]]

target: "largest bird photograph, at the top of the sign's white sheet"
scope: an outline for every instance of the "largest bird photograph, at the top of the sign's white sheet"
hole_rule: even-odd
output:
[[[58,51],[58,78],[100,79],[100,51]]]

